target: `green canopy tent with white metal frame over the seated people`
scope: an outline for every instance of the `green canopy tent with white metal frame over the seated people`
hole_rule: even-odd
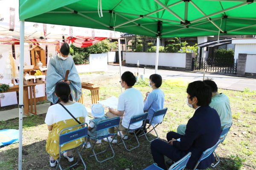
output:
[[[256,34],[256,3],[253,0],[20,0],[19,3],[20,42],[24,40],[24,21],[157,37],[156,72],[160,37]],[[20,71],[23,72],[22,46]],[[20,79],[22,76],[20,74]],[[20,108],[22,89],[21,83]],[[19,169],[21,147],[20,132]]]

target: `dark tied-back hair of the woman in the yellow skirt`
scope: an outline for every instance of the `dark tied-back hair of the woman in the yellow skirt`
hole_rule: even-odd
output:
[[[58,82],[55,87],[55,94],[66,103],[69,100],[70,86],[66,82]]]

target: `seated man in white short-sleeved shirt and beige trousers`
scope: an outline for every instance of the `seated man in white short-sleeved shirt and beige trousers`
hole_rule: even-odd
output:
[[[121,86],[125,88],[125,91],[118,98],[117,111],[113,108],[109,108],[109,111],[106,113],[106,116],[109,118],[120,116],[119,130],[122,131],[118,135],[124,139],[128,139],[128,136],[124,136],[126,130],[129,126],[130,120],[133,116],[144,113],[143,111],[143,96],[140,91],[133,88],[136,78],[134,74],[130,71],[125,71],[121,76]],[[136,129],[142,126],[142,121],[130,125],[130,129]],[[110,133],[114,133],[114,128],[109,129]]]

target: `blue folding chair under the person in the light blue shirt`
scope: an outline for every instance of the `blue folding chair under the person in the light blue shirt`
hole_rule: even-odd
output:
[[[164,118],[166,112],[167,112],[167,108],[163,108],[163,109],[157,110],[157,111],[154,113],[154,115],[152,116],[152,119],[150,120],[148,127],[147,127],[145,130],[143,130],[143,134],[140,133],[139,137],[145,135],[145,137],[146,137],[146,139],[148,140],[148,142],[152,142],[153,140],[158,139],[158,134],[157,134],[157,131],[156,131],[155,128],[156,128],[158,125],[160,125],[160,124],[163,122],[163,120],[162,120],[162,122],[157,123],[156,125],[153,125],[153,124],[152,124],[152,121],[153,121],[154,117],[157,117],[157,116],[163,115],[163,118]],[[151,129],[149,132],[145,133],[145,131],[146,131],[147,129],[149,129],[150,126],[152,126],[152,129]],[[156,137],[155,139],[153,139],[153,140],[149,140],[147,134],[150,133],[152,130],[155,131],[157,137]]]

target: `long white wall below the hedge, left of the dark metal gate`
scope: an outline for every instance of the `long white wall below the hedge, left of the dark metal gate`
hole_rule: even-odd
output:
[[[156,53],[126,52],[126,63],[155,65]],[[186,53],[159,53],[159,66],[186,68]]]

